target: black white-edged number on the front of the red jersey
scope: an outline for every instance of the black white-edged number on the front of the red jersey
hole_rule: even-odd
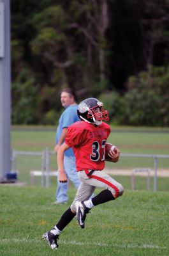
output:
[[[101,161],[105,160],[105,145],[107,140],[103,140],[101,143]],[[94,141],[92,143],[92,154],[91,154],[91,160],[92,161],[98,161],[100,159],[100,150],[99,150],[99,143],[98,141]]]

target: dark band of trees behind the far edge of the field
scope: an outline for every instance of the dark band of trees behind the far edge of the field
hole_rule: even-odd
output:
[[[114,124],[169,125],[169,5],[11,0],[12,123],[57,124],[60,92],[98,97]]]

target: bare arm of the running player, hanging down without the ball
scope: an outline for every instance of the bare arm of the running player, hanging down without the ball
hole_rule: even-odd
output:
[[[66,143],[63,143],[61,147],[59,147],[57,151],[57,164],[58,164],[58,172],[59,172],[59,181],[60,182],[67,182],[67,177],[66,173],[64,172],[64,164],[63,164],[63,159],[64,159],[64,151],[70,148]]]

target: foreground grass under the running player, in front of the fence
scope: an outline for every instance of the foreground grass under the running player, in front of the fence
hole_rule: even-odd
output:
[[[96,193],[99,190],[96,191]],[[131,191],[87,215],[82,230],[73,220],[52,251],[41,239],[57,223],[68,205],[52,205],[55,189],[0,186],[1,256],[168,256],[169,193]]]

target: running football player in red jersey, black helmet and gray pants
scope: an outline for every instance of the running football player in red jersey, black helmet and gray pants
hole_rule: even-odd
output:
[[[119,182],[102,172],[105,167],[105,145],[110,134],[110,125],[103,122],[109,120],[108,111],[103,109],[103,103],[98,99],[88,98],[80,102],[77,112],[80,121],[68,127],[65,142],[57,153],[57,163],[59,181],[67,182],[63,164],[64,151],[72,147],[81,184],[72,204],[62,214],[58,223],[52,230],[43,234],[43,239],[48,241],[52,249],[58,248],[59,235],[75,216],[78,225],[84,228],[86,214],[92,207],[115,200],[124,192]],[[112,159],[117,159],[120,151],[115,147],[109,155]],[[91,198],[96,187],[103,190]]]

